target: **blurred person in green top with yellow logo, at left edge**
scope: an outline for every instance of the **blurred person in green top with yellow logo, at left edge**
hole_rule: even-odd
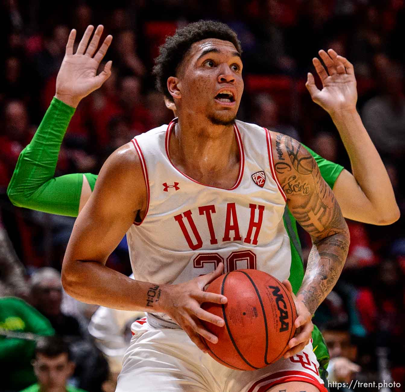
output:
[[[0,298],[1,389],[20,390],[35,382],[31,360],[38,335],[53,335],[49,321],[25,301]]]

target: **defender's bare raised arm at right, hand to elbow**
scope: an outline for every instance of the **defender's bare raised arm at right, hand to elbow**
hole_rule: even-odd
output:
[[[387,170],[360,115],[356,110],[357,89],[353,65],[333,49],[319,51],[312,62],[322,81],[319,90],[311,73],[307,89],[312,100],[332,118],[349,155],[353,175],[343,170],[333,192],[343,215],[349,219],[376,225],[388,225],[399,219],[399,208]]]

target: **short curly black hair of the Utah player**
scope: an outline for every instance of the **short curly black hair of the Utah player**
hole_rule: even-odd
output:
[[[239,54],[242,54],[241,43],[237,34],[224,23],[200,20],[176,30],[175,34],[167,36],[165,43],[160,46],[159,55],[155,59],[155,66],[153,67],[156,88],[171,101],[173,101],[173,97],[168,92],[167,79],[176,76],[177,68],[191,45],[207,38],[230,41],[235,45]]]

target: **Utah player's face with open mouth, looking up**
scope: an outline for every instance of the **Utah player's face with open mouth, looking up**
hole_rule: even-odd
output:
[[[235,46],[216,38],[194,43],[179,67],[179,111],[232,124],[243,92],[242,61]]]

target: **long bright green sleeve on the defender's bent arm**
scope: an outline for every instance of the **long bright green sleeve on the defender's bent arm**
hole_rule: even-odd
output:
[[[83,174],[54,177],[60,146],[75,109],[53,98],[31,143],[21,151],[7,195],[17,207],[76,217]],[[87,175],[92,189],[94,175]]]

